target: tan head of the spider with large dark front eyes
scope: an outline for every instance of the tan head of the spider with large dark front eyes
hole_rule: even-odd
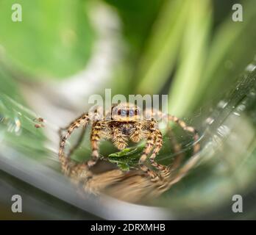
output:
[[[120,122],[135,122],[141,120],[141,109],[135,104],[121,103],[113,106],[112,119]]]

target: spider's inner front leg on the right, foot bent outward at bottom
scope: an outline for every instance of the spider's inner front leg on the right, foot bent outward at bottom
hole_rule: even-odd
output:
[[[139,160],[139,166],[141,170],[147,173],[151,178],[157,178],[157,174],[154,173],[154,171],[149,170],[149,168],[146,167],[145,162],[146,162],[147,156],[149,156],[149,153],[152,151],[152,148],[154,147],[155,134],[156,134],[156,129],[154,127],[154,122],[152,122],[149,127],[149,135],[146,139],[146,145],[143,149],[143,153]]]

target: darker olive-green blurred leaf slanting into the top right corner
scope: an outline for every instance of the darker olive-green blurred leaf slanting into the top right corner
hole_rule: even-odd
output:
[[[198,89],[191,95],[191,110],[223,96],[255,57],[255,1],[243,1],[242,5],[243,22],[232,21],[231,11],[216,29]],[[190,85],[193,86],[193,80]]]

